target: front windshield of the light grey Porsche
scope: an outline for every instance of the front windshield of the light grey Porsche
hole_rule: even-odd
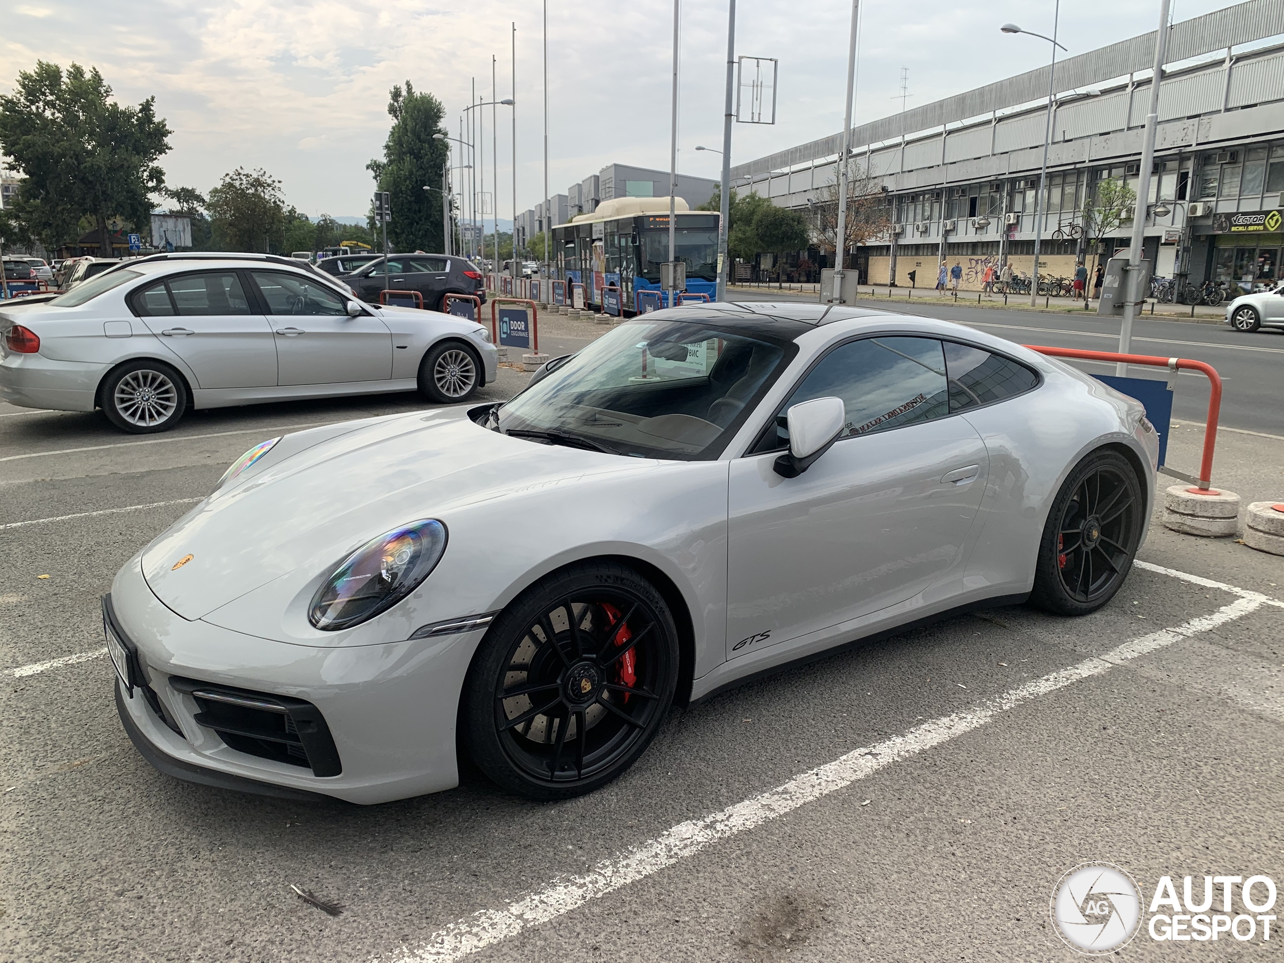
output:
[[[646,317],[501,407],[497,430],[637,457],[716,458],[796,349],[733,326]]]

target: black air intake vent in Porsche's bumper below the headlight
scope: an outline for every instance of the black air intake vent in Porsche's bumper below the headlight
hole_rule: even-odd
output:
[[[238,752],[308,768],[313,776],[343,772],[330,727],[311,702],[177,675],[169,686],[195,700],[196,724]]]

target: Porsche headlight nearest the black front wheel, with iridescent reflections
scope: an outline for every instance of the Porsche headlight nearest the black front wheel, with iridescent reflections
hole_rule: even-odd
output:
[[[446,551],[446,525],[435,519],[372,538],[349,555],[312,596],[308,620],[336,632],[397,605],[428,578]]]

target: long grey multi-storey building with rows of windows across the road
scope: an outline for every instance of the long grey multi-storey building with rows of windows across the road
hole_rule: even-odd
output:
[[[909,284],[914,271],[928,288],[941,263],[960,265],[973,289],[987,266],[1032,273],[1049,109],[1040,273],[1070,276],[1077,259],[1091,268],[1126,248],[1132,205],[1103,207],[1113,190],[1103,185],[1138,184],[1153,58],[1152,32],[1058,63],[1050,108],[1045,67],[854,128],[854,169],[882,194],[891,227],[847,252],[849,266],[873,284]],[[1176,23],[1166,59],[1145,257],[1157,276],[1272,282],[1284,249],[1284,0]],[[732,177],[811,209],[840,148],[836,134]]]

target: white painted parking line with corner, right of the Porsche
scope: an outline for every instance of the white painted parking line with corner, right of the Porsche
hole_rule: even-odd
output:
[[[1211,615],[1202,615],[1181,625],[1161,629],[1135,638],[1097,657],[1085,659],[1076,665],[1049,673],[1023,686],[1009,690],[1000,696],[985,700],[963,713],[944,715],[922,725],[915,725],[901,736],[864,746],[840,756],[832,763],[805,772],[788,782],[768,790],[761,795],[737,802],[718,813],[710,813],[700,819],[691,819],[674,826],[654,840],[647,840],[618,856],[605,859],[591,872],[556,880],[542,890],[535,890],[507,904],[502,909],[480,910],[471,917],[458,919],[433,933],[417,948],[402,946],[390,957],[376,957],[375,960],[390,959],[397,963],[453,963],[470,957],[488,946],[502,942],[541,923],[570,913],[592,899],[605,896],[629,883],[645,880],[679,860],[692,856],[711,844],[738,833],[754,829],[777,817],[814,802],[832,792],[846,788],[880,769],[909,759],[924,750],[940,746],[958,736],[978,729],[1000,713],[1005,713],[1040,696],[1064,688],[1094,675],[1104,675],[1111,669],[1124,665],[1148,652],[1208,632],[1234,619],[1256,611],[1263,602],[1275,602],[1266,596],[1247,589],[1238,589],[1222,583],[1186,575],[1156,565],[1145,565],[1149,570],[1161,571],[1175,578],[1183,578],[1208,588],[1222,588],[1238,594],[1230,605],[1225,605]]]

